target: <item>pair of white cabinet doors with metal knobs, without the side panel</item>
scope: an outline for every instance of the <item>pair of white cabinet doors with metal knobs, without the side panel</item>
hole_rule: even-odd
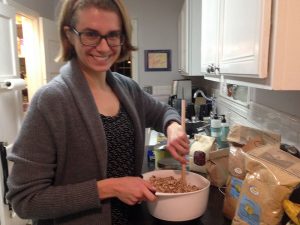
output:
[[[267,76],[271,0],[203,0],[202,16],[202,71]]]

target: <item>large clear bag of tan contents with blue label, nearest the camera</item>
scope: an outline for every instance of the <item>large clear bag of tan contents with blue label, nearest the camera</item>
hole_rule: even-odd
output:
[[[283,200],[300,184],[300,159],[267,145],[248,152],[232,225],[277,225],[284,213]]]

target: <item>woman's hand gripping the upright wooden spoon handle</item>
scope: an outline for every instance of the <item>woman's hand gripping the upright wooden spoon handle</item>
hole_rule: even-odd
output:
[[[174,159],[186,164],[185,155],[189,153],[189,139],[183,127],[177,122],[172,122],[167,127],[167,149]]]

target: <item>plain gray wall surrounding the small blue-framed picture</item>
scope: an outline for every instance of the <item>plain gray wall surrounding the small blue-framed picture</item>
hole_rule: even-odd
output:
[[[171,85],[178,73],[178,15],[183,0],[125,0],[138,23],[138,76],[143,86]],[[144,50],[171,49],[172,71],[145,72]]]

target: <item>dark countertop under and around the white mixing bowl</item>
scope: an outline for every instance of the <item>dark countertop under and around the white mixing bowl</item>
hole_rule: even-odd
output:
[[[144,159],[143,172],[154,169],[154,162]],[[195,220],[185,222],[168,222],[154,218],[148,212],[146,202],[135,206],[131,225],[230,225],[231,221],[223,216],[224,195],[217,187],[210,186],[208,206],[205,213]],[[200,203],[199,203],[200,204]]]

